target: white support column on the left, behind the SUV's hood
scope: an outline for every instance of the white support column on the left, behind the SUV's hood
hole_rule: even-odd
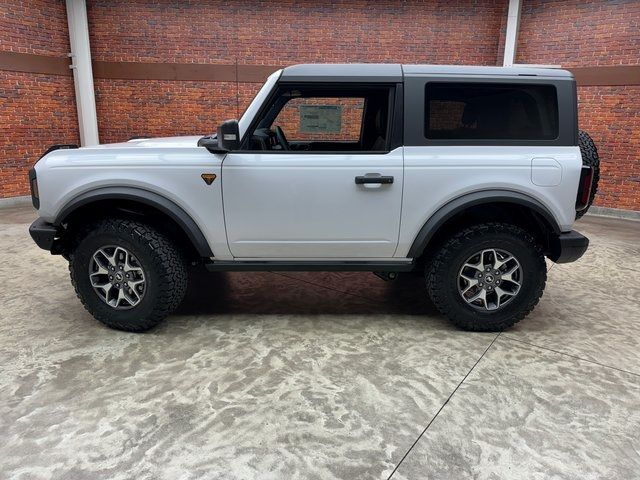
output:
[[[78,108],[78,128],[82,146],[97,145],[98,117],[96,97],[93,89],[91,69],[91,48],[89,46],[89,23],[85,0],[66,0],[69,22],[69,42],[71,44],[73,83],[76,87]]]

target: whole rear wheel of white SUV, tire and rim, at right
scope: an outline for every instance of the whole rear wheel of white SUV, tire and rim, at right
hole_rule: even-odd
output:
[[[465,330],[501,331],[538,303],[547,267],[542,249],[510,224],[475,225],[451,237],[426,268],[438,310]]]

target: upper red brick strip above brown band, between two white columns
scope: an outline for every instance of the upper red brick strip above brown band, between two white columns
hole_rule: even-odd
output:
[[[89,0],[97,60],[490,64],[503,0]]]

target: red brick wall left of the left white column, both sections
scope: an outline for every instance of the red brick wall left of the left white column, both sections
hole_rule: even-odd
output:
[[[62,1],[0,0],[0,50],[65,57]],[[78,143],[73,79],[0,70],[0,197],[26,195],[27,171],[53,143]]]

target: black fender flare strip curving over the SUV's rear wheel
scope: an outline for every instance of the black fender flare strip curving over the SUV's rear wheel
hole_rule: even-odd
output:
[[[482,205],[483,203],[511,203],[522,205],[539,214],[545,220],[545,223],[551,226],[554,234],[559,235],[561,232],[560,226],[553,214],[535,198],[509,190],[483,190],[462,195],[436,210],[416,235],[416,238],[411,244],[411,248],[409,248],[407,257],[417,258],[422,255],[431,238],[447,220],[469,207]]]

